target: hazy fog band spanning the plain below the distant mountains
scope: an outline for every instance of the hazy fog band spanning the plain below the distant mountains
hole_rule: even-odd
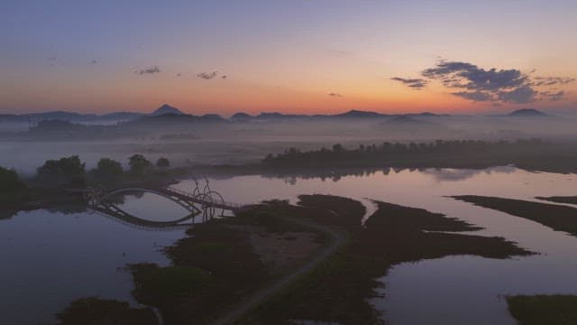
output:
[[[161,116],[160,116],[161,117]],[[103,129],[68,130],[67,125],[14,132],[0,124],[0,165],[31,173],[48,159],[78,154],[87,167],[101,157],[126,163],[133,153],[152,160],[168,157],[174,165],[255,163],[289,147],[301,151],[343,144],[509,140],[543,138],[577,142],[575,119],[562,116],[386,116],[378,118],[282,117],[249,122],[189,123],[143,119]],[[144,121],[144,122],[142,122]],[[98,126],[100,127],[100,126]]]

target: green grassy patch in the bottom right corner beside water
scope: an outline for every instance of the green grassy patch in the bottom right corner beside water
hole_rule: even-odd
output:
[[[577,324],[577,296],[516,295],[508,296],[508,311],[519,325]]]

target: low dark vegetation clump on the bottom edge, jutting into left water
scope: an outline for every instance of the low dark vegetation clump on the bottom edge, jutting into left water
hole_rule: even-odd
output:
[[[128,302],[83,298],[57,314],[59,325],[158,325],[150,308],[131,308]]]

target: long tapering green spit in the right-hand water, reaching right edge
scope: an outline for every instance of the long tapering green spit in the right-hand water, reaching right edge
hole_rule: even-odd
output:
[[[566,231],[577,237],[577,209],[557,204],[512,200],[475,195],[453,196],[483,208],[496,209],[510,215],[536,221],[556,231]]]

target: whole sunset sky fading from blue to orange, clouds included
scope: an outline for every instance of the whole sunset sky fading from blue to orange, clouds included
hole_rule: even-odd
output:
[[[577,108],[577,2],[0,2],[0,113]]]

